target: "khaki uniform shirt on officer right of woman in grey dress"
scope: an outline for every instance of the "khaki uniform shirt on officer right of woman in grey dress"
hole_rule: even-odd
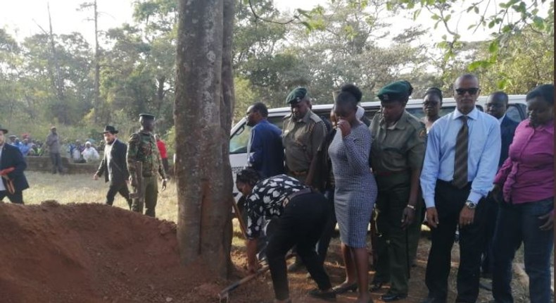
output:
[[[371,166],[373,173],[393,173],[422,168],[427,141],[424,123],[407,111],[388,128],[381,113],[370,126],[372,135]]]

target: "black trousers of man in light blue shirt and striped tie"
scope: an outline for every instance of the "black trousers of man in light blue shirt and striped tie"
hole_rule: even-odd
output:
[[[462,190],[450,183],[438,180],[434,202],[438,211],[439,224],[432,228],[432,245],[427,261],[425,283],[429,297],[446,302],[448,276],[450,275],[451,252],[454,233],[460,219],[460,211],[469,196],[471,183]],[[481,252],[484,247],[484,199],[475,209],[472,225],[460,227],[460,267],[457,271],[457,297],[455,302],[476,302],[479,295]]]

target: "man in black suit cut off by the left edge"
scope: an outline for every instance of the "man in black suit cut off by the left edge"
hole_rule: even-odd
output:
[[[23,204],[23,190],[29,188],[23,174],[27,163],[18,147],[6,143],[7,133],[0,126],[0,200],[8,197],[12,203]]]

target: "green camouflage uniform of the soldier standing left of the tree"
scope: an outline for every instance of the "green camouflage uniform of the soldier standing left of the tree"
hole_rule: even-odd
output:
[[[158,180],[156,180],[156,173],[159,173],[160,177],[166,179],[166,173],[154,136],[150,132],[141,131],[132,134],[127,143],[126,159],[127,170],[132,180],[135,178],[136,173],[134,163],[136,161],[143,163],[143,171],[141,173],[143,176],[144,191],[141,192],[141,194],[144,197],[145,214],[154,217],[156,215],[156,200],[158,199]],[[132,182],[132,187],[134,192],[137,192],[137,186],[133,186],[134,184],[135,183]],[[132,211],[143,213],[143,204],[139,202],[139,199],[133,199]]]

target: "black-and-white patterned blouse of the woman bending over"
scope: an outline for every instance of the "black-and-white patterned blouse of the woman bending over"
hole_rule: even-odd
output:
[[[305,187],[298,180],[287,175],[275,175],[255,184],[251,194],[245,199],[248,239],[254,239],[260,235],[265,217],[282,216],[284,199]]]

